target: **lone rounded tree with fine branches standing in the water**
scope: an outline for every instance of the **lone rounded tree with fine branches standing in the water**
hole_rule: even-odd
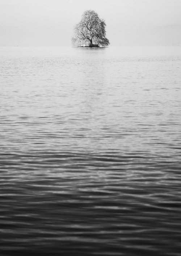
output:
[[[81,21],[75,26],[72,44],[76,46],[108,46],[109,40],[105,37],[106,24],[94,11],[85,11]]]

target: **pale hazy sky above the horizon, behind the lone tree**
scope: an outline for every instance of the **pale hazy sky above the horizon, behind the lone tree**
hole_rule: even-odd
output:
[[[92,9],[111,45],[181,45],[181,0],[0,0],[0,46],[71,46]]]

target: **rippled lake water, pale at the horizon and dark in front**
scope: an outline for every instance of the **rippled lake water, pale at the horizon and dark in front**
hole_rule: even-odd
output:
[[[178,256],[181,47],[0,48],[0,255]]]

